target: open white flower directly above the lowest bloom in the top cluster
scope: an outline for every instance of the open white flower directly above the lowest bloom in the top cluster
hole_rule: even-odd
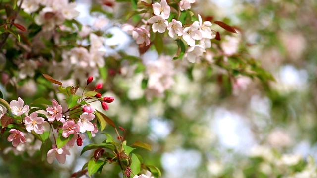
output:
[[[186,27],[183,31],[183,39],[188,45],[194,46],[196,40],[201,40],[203,38],[202,33],[199,29],[199,22],[195,21],[190,27]]]

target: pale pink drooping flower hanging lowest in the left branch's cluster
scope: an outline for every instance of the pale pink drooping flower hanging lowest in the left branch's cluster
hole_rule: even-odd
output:
[[[64,164],[66,161],[66,155],[70,155],[70,152],[65,147],[57,149],[56,145],[53,145],[52,149],[50,149],[46,154],[47,161],[50,164],[53,163],[55,158],[59,163]]]

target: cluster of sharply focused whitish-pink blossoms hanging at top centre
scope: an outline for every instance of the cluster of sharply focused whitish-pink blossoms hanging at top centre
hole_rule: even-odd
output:
[[[179,2],[180,10],[187,10],[191,8],[191,4],[195,0],[181,0]],[[206,52],[205,49],[211,47],[211,39],[215,38],[215,34],[211,30],[212,25],[209,21],[202,20],[202,17],[198,15],[198,21],[194,21],[193,24],[184,27],[181,21],[172,19],[168,22],[167,19],[170,16],[171,8],[166,0],[161,0],[160,3],[156,2],[152,4],[154,16],[151,17],[148,22],[152,24],[152,31],[164,33],[168,30],[168,35],[172,39],[183,38],[183,40],[189,45],[184,57],[194,63],[197,58]],[[133,39],[136,40],[137,44],[149,45],[150,32],[148,24],[142,25],[141,27],[133,27],[128,24],[123,24],[122,29],[128,34],[131,34]]]

